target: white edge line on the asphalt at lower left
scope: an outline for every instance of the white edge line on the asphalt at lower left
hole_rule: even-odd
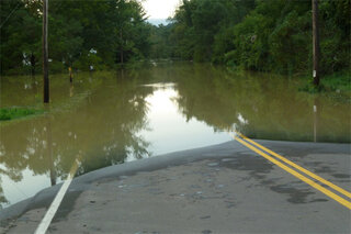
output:
[[[77,161],[76,161],[76,164],[77,164]],[[42,222],[39,223],[39,225],[35,230],[34,234],[45,234],[46,233],[46,230],[50,225],[52,220],[54,219],[56,211],[57,211],[58,207],[60,205],[60,203],[66,194],[66,191],[73,179],[73,175],[75,175],[75,172],[70,172],[68,178],[65,180],[64,185],[61,186],[61,188],[57,192],[53,203],[50,204],[50,207],[47,210]]]

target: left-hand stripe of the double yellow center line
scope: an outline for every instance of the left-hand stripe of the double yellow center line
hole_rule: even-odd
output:
[[[253,147],[252,145],[250,145],[249,143],[245,142],[244,140],[241,140],[241,138],[239,138],[237,136],[235,136],[235,140],[237,140],[239,143],[241,143],[242,145],[247,146],[251,151],[258,153],[259,155],[261,155],[265,159],[270,160],[271,163],[275,164],[276,166],[281,167],[282,169],[286,170],[287,172],[292,174],[293,176],[297,177],[298,179],[303,180],[304,182],[308,183],[309,186],[314,187],[315,189],[319,190],[320,192],[325,193],[329,198],[332,198],[333,200],[336,200],[340,204],[342,204],[342,205],[344,205],[344,207],[347,207],[347,208],[349,208],[351,210],[351,202],[349,202],[346,199],[337,196],[336,193],[331,192],[330,190],[319,186],[318,183],[316,183],[313,180],[308,179],[307,177],[301,175],[299,172],[293,170],[292,168],[285,166],[284,164],[280,163],[279,160],[274,159],[273,157],[264,154],[263,152],[261,152],[260,149]]]

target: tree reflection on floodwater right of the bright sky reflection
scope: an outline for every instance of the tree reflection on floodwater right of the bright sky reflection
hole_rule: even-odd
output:
[[[314,141],[318,100],[319,142],[350,142],[350,109],[322,96],[298,92],[296,81],[268,74],[235,75],[222,67],[193,66],[177,74],[177,103],[186,119],[218,131],[234,126],[254,138]]]

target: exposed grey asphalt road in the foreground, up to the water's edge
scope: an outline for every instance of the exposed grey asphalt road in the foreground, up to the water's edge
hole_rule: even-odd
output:
[[[350,144],[251,141],[75,178],[47,233],[350,233]],[[61,185],[0,213],[34,233]]]

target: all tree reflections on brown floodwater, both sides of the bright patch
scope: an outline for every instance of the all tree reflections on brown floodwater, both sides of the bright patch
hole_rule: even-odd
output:
[[[350,142],[349,105],[297,92],[287,78],[238,76],[222,67],[189,64],[99,76],[80,75],[73,87],[68,77],[54,77],[54,108],[48,115],[0,126],[0,174],[21,181],[22,171],[30,169],[34,175],[59,179],[65,178],[78,155],[78,174],[123,163],[127,156],[148,156],[149,143],[138,132],[147,129],[145,98],[152,92],[151,87],[139,85],[149,81],[176,82],[179,97],[174,102],[180,112],[215,131],[235,126],[254,138],[314,141],[316,134],[320,142]],[[32,80],[19,82],[22,88],[16,82],[2,86],[1,101],[33,102],[35,91],[22,92]],[[41,83],[37,90],[42,90]],[[48,135],[53,157],[47,148]],[[5,201],[0,186],[0,203]]]

